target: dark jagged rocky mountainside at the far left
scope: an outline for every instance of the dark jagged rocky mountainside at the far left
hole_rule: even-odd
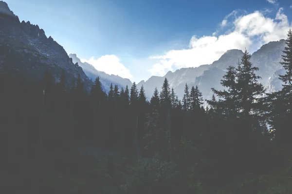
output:
[[[42,79],[44,72],[50,71],[56,81],[64,69],[68,85],[80,74],[86,89],[91,88],[92,81],[62,46],[37,25],[20,22],[3,1],[0,1],[0,47],[0,68],[21,71],[35,79]]]

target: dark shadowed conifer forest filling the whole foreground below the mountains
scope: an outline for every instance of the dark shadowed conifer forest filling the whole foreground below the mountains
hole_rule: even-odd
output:
[[[65,72],[42,82],[0,73],[1,190],[8,193],[292,193],[292,32],[279,77],[266,94],[245,51],[204,101],[165,79],[149,100],[143,86],[97,78],[87,92]],[[5,64],[4,66],[9,66]],[[203,104],[206,106],[203,108]]]

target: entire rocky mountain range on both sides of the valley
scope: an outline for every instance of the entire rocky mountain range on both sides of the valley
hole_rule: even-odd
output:
[[[267,92],[279,90],[281,82],[277,75],[282,73],[281,60],[284,40],[270,42],[263,45],[252,54],[251,62],[259,68],[257,72],[262,77],[260,82],[267,88]],[[58,80],[62,69],[65,70],[68,85],[78,74],[89,90],[92,81],[100,77],[103,88],[109,91],[110,83],[117,84],[119,88],[131,86],[132,82],[117,75],[109,75],[98,71],[93,65],[82,63],[76,54],[67,54],[50,36],[47,37],[44,30],[29,21],[20,22],[8,7],[0,1],[0,69],[14,70],[30,75],[35,79],[41,79],[45,71],[51,71]],[[161,90],[164,78],[174,88],[178,97],[183,97],[185,83],[191,86],[199,86],[204,98],[212,96],[211,88],[222,89],[220,80],[229,65],[237,65],[238,59],[243,52],[238,49],[226,51],[218,61],[209,65],[182,68],[175,72],[168,72],[164,77],[152,76],[147,81],[140,81],[137,86],[144,85],[148,100],[153,94],[155,87]],[[13,66],[7,66],[12,62]]]

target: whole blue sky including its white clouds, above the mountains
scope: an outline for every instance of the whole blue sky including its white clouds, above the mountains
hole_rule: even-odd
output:
[[[291,0],[5,1],[68,54],[136,82],[212,63],[227,49],[255,51],[285,38],[292,18]]]

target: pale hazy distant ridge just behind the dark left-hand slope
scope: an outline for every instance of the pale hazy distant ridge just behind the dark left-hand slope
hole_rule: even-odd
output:
[[[127,85],[129,88],[132,85],[132,82],[129,79],[121,78],[116,75],[109,75],[103,71],[98,71],[89,63],[82,63],[76,54],[69,54],[69,57],[72,58],[73,63],[78,63],[78,65],[82,67],[83,71],[91,79],[91,81],[95,81],[95,79],[99,77],[106,92],[109,92],[110,90],[110,83],[113,85],[118,85],[119,88],[124,89]]]

